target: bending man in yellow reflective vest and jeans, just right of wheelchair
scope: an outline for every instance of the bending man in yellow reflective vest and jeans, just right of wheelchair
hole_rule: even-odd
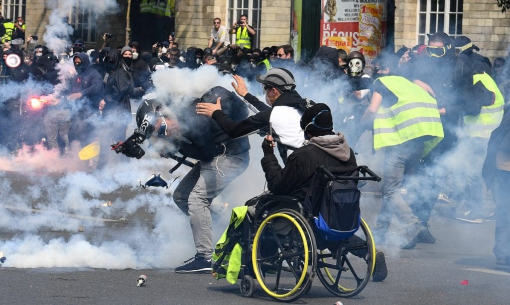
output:
[[[424,89],[402,76],[389,75],[397,59],[379,59],[370,104],[361,123],[373,120],[374,149],[385,149],[382,174],[382,203],[374,228],[375,242],[382,242],[393,214],[405,229],[401,249],[412,249],[425,242],[429,234],[402,198],[404,171],[412,172],[420,158],[427,155],[444,137],[437,102]]]

